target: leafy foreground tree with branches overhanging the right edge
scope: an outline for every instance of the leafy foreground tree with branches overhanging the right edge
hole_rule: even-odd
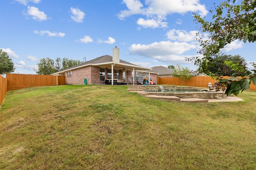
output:
[[[255,0],[242,0],[235,4],[236,0],[222,2],[215,8],[216,14],[212,16],[212,22],[204,20],[200,15],[194,14],[195,21],[200,24],[202,32],[208,33],[209,38],[205,40],[204,35],[199,33],[198,40],[202,49],[199,51],[204,57],[196,58],[195,64],[199,67],[198,72],[211,74],[209,67],[214,67],[213,56],[219,53],[220,49],[235,40],[254,42],[256,40],[256,8]],[[238,95],[242,90],[249,90],[250,83],[256,85],[256,70],[248,71],[241,69],[237,63],[226,63],[234,72],[240,73],[242,78],[233,77],[222,79],[219,82],[226,85],[226,94]],[[253,64],[255,66],[255,63]]]

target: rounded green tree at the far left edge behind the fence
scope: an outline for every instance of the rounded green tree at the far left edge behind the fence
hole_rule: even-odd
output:
[[[0,74],[14,72],[14,64],[8,54],[0,49]]]

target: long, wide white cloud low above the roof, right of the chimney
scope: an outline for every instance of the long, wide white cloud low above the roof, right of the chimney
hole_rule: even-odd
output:
[[[196,45],[185,42],[161,41],[149,45],[133,44],[129,51],[132,55],[153,58],[161,62],[186,63],[186,57],[191,56],[185,56],[182,53],[196,49],[196,47]]]

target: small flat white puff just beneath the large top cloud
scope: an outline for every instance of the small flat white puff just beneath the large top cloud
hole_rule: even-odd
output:
[[[162,20],[144,20],[143,18],[138,19],[137,24],[144,27],[144,28],[162,28],[167,27],[167,22],[163,22]]]

